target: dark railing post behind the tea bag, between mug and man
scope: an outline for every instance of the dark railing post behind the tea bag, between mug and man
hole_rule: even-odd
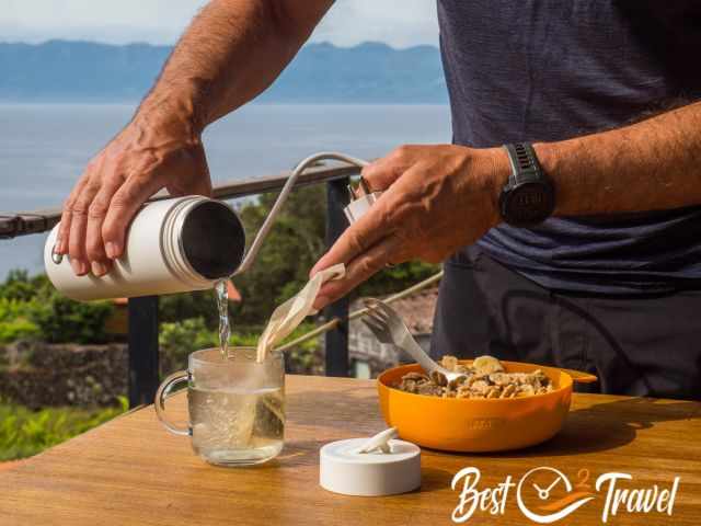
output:
[[[326,247],[331,247],[346,229],[343,208],[348,204],[349,179],[326,183]],[[327,320],[340,318],[341,323],[325,335],[326,376],[348,376],[348,298],[342,298],[324,309]]]

